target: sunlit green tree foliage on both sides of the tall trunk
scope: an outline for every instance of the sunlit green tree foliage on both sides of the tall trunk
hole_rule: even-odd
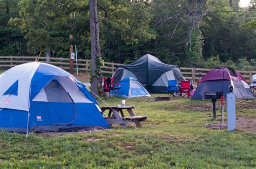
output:
[[[31,53],[50,50],[59,56],[62,51],[68,51],[69,45],[73,43],[80,46],[78,54],[89,58],[90,24],[86,0],[20,0],[18,6],[21,8],[19,17],[10,21],[26,33]],[[99,1],[99,6],[102,46],[105,44],[104,37],[108,34],[120,36],[120,40],[124,40],[126,44],[154,38],[154,34],[148,31],[151,16],[144,3]],[[71,13],[75,14],[75,18],[69,17]],[[72,40],[69,39],[69,34],[73,34]],[[65,57],[68,57],[68,53]]]

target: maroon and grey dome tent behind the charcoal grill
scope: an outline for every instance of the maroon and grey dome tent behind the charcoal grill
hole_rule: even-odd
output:
[[[197,90],[191,100],[201,100],[205,98],[206,91],[223,91],[226,97],[230,93],[228,86],[233,86],[233,92],[237,98],[253,99],[254,95],[247,84],[245,78],[230,67],[217,67],[209,71],[200,80]]]

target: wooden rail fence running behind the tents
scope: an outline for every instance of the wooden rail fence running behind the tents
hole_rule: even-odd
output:
[[[47,61],[49,59],[49,61]],[[33,62],[33,61],[39,61],[39,62],[45,62],[48,64],[52,64],[55,66],[58,66],[62,69],[65,69],[66,71],[69,71],[70,69],[70,59],[69,58],[46,58],[46,57],[17,57],[17,56],[0,56],[0,68],[8,68],[8,67],[14,67],[19,64],[24,64],[27,62]],[[89,59],[77,59],[77,66],[78,71],[82,72],[89,72]],[[104,66],[102,66],[102,73],[108,74],[109,76],[116,71],[117,67],[122,64],[117,64],[114,62],[104,62]],[[76,70],[76,62],[74,60],[73,63],[74,69]],[[205,69],[205,68],[196,68],[196,67],[181,67],[181,74],[183,74],[185,79],[193,79],[198,80],[199,79],[199,73],[201,72],[203,75],[205,75],[208,71],[211,69]],[[256,71],[238,71],[240,72],[246,80],[252,81],[252,75],[256,74]]]

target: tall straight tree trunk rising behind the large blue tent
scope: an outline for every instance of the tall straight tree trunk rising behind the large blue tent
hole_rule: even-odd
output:
[[[102,88],[102,72],[97,68],[100,64],[100,44],[99,44],[99,19],[97,15],[97,0],[89,1],[90,10],[90,31],[91,31],[91,91],[99,96],[99,88]],[[96,61],[98,60],[98,63]],[[98,65],[99,67],[100,65]]]

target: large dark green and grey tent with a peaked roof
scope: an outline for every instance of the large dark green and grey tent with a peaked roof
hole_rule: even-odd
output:
[[[168,80],[185,80],[178,66],[164,64],[150,54],[132,64],[120,65],[113,74],[114,83],[129,77],[137,79],[150,93],[166,93]]]

